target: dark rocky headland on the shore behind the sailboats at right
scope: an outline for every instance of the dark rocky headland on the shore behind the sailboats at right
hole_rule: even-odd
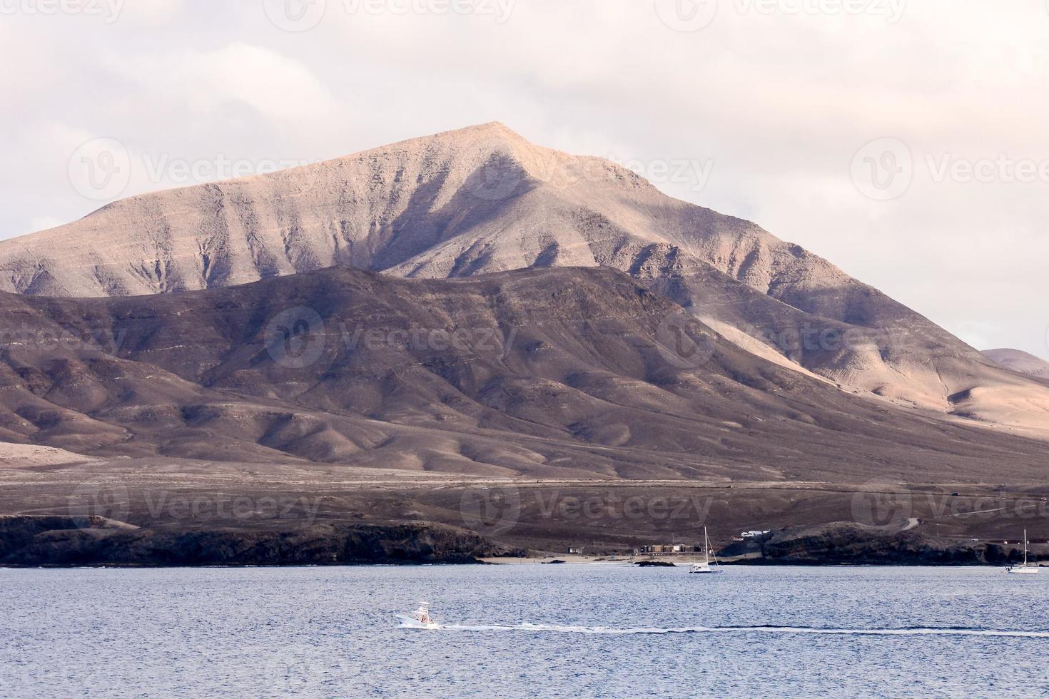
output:
[[[780,565],[1007,565],[1022,551],[989,543],[959,544],[855,523],[787,527],[736,542],[719,552],[737,563]],[[1033,560],[1033,559],[1032,559]]]

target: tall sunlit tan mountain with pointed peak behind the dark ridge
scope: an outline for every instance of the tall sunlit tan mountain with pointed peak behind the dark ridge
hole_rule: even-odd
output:
[[[499,124],[131,197],[0,242],[0,289],[125,297],[348,266],[406,278],[608,266],[847,392],[1049,434],[1049,387],[754,223]]]

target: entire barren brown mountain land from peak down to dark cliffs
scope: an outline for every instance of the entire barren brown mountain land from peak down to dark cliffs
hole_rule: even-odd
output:
[[[501,125],[117,201],[0,288],[0,515],[613,551],[1049,514],[1036,357]]]

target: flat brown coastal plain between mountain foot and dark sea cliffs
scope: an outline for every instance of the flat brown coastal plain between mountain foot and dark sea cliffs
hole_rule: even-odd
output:
[[[967,551],[955,563],[988,562],[972,553],[988,547],[1015,560],[1028,527],[1032,554],[1049,555],[1037,533],[1049,515],[1044,483],[493,480],[157,459],[5,469],[0,478],[2,511],[105,517],[165,538],[230,532],[251,545],[267,532],[322,546],[324,527],[442,522],[497,542],[504,554],[528,549],[565,558],[582,549],[601,556],[647,544],[698,545],[708,526],[716,548],[746,561],[742,531],[811,533],[822,524],[822,533],[851,523],[858,525],[853,550],[882,563],[944,562],[936,556],[949,549]],[[835,556],[796,545],[792,555],[861,562],[847,550]]]

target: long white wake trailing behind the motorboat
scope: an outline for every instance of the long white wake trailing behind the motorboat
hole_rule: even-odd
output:
[[[527,631],[532,633],[585,633],[607,635],[633,634],[715,634],[715,633],[769,633],[769,634],[816,634],[838,636],[1002,636],[1007,638],[1049,638],[1049,631],[1007,631],[1000,629],[969,628],[924,628],[913,627],[903,629],[823,629],[819,627],[680,627],[659,629],[639,627],[634,629],[615,629],[612,627],[579,627],[555,624],[516,624],[513,626],[490,625],[468,626],[462,624],[442,624],[435,627],[422,627],[405,621],[402,628],[431,628],[442,631]]]

